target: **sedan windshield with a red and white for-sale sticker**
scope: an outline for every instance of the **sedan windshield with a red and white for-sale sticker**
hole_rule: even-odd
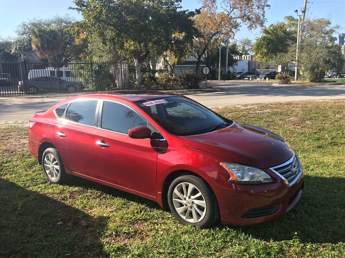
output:
[[[183,97],[137,101],[136,104],[174,135],[206,133],[232,123],[195,101]]]

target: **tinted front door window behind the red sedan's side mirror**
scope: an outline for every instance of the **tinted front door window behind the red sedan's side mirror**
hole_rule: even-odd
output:
[[[129,129],[137,126],[147,126],[146,120],[137,112],[124,105],[104,101],[102,109],[102,128],[128,134]]]

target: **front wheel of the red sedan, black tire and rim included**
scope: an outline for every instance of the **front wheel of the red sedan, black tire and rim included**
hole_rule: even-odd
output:
[[[172,214],[184,225],[210,227],[219,218],[218,201],[209,185],[195,175],[182,175],[168,191]]]

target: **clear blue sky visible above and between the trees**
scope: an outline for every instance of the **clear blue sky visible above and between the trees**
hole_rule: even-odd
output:
[[[344,9],[345,0],[308,0],[309,10],[307,16],[309,17],[328,17],[332,23],[339,24],[343,29],[337,33],[345,33],[344,24]],[[27,19],[34,17],[49,18],[53,15],[70,14],[76,19],[81,19],[81,15],[76,11],[67,10],[69,6],[73,6],[74,3],[71,0],[59,0],[59,1],[47,1],[47,0],[1,0],[1,15],[0,15],[0,37],[14,36],[14,30],[16,27]],[[335,3],[336,2],[336,3]],[[271,5],[270,9],[267,9],[266,25],[282,21],[287,15],[295,15],[296,9],[300,10],[303,7],[304,0],[268,0],[268,4]],[[200,8],[198,0],[182,0],[181,3],[184,9],[194,10]],[[296,16],[297,17],[297,16]],[[243,37],[255,40],[260,30],[248,31],[243,26],[240,31],[235,35],[235,39],[239,40]],[[337,35],[334,35],[337,36]]]

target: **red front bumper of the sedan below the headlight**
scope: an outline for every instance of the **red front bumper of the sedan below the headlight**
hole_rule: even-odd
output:
[[[303,174],[287,187],[283,180],[260,185],[242,185],[211,180],[219,203],[221,221],[248,226],[282,218],[297,203],[304,187]],[[269,214],[269,215],[265,215]]]

